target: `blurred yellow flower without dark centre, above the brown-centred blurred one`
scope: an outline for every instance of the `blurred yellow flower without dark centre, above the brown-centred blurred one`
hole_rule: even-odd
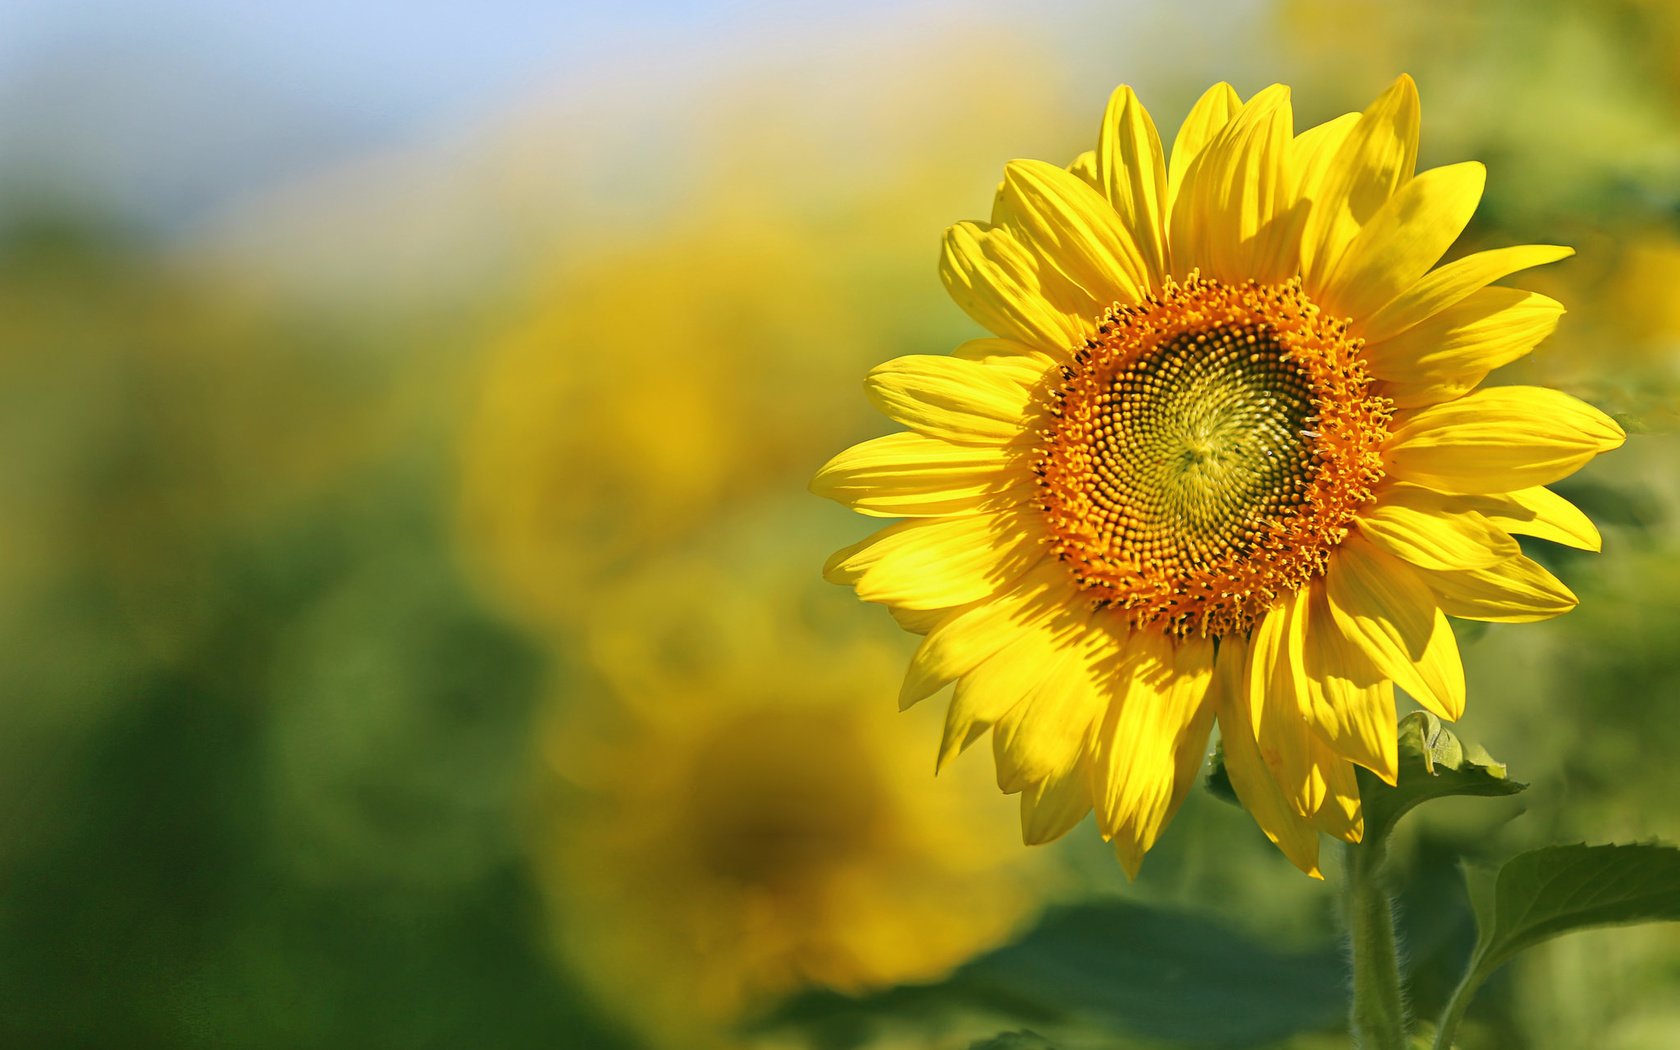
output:
[[[736,228],[561,267],[491,354],[464,438],[460,528],[486,588],[566,632],[598,588],[816,455],[795,373],[842,373],[847,339],[800,244]],[[773,289],[744,296],[741,289]],[[790,361],[788,346],[808,356]]]

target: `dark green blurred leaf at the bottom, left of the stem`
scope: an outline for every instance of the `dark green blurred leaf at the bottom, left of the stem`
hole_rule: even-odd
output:
[[[796,1026],[822,1047],[862,1047],[875,1030],[932,1030],[984,1013],[1058,1035],[1072,1026],[1235,1048],[1332,1028],[1346,1016],[1344,996],[1337,948],[1282,953],[1205,916],[1109,899],[1052,909],[1021,939],[944,981],[862,998],[806,993],[754,1028]]]

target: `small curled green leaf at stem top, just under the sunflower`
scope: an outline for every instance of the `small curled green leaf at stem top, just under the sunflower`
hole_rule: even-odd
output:
[[[1453,795],[1500,796],[1527,788],[1505,776],[1478,744],[1465,746],[1441,719],[1413,711],[1399,721],[1399,778],[1394,786],[1359,768],[1368,843],[1381,843],[1401,816],[1431,798]]]

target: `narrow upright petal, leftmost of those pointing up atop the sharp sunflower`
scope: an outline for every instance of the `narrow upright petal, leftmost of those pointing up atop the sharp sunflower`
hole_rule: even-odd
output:
[[[1166,153],[1149,111],[1124,84],[1102,114],[1094,163],[1095,185],[1131,232],[1147,284],[1159,287],[1168,274]]]

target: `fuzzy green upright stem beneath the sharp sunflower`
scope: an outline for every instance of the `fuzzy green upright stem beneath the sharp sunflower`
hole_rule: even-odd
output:
[[[1394,906],[1383,889],[1383,842],[1347,847],[1347,936],[1354,956],[1351,1026],[1361,1050],[1406,1050]]]

